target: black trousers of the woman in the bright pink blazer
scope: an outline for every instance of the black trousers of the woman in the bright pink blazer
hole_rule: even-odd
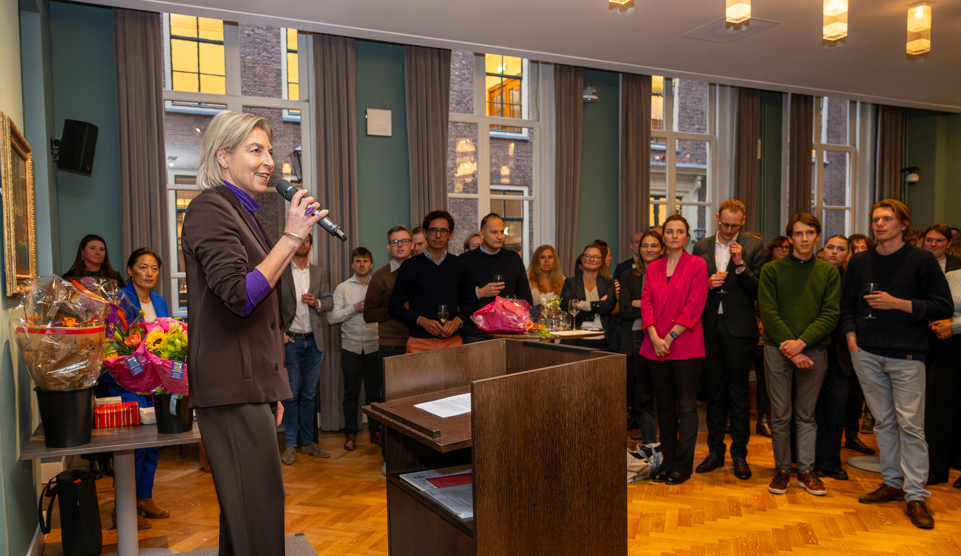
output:
[[[660,425],[660,469],[690,475],[698,443],[698,382],[704,359],[648,360]]]

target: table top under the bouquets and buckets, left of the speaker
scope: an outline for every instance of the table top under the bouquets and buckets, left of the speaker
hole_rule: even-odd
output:
[[[47,447],[43,441],[43,424],[41,423],[34,431],[34,435],[30,437],[30,442],[20,452],[20,459],[26,461],[41,457],[61,457],[98,451],[176,446],[198,442],[200,442],[200,427],[194,422],[192,429],[181,434],[160,434],[157,432],[156,424],[94,428],[89,444],[75,447]]]

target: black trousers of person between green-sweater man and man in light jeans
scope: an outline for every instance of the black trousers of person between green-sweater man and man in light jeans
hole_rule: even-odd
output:
[[[844,433],[848,405],[850,376],[845,376],[838,363],[834,346],[827,348],[827,374],[821,384],[821,395],[814,410],[814,422],[818,424],[818,440],[815,448],[814,469],[838,471],[841,469],[841,435]]]

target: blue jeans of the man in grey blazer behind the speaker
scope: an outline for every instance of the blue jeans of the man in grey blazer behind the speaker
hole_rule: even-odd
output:
[[[283,344],[287,361],[287,378],[293,397],[283,400],[283,446],[297,446],[298,422],[301,444],[313,442],[313,416],[317,412],[317,384],[324,352],[317,350],[313,336],[293,337],[293,343]]]

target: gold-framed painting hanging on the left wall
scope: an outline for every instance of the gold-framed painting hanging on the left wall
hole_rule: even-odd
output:
[[[7,295],[37,276],[37,221],[34,215],[34,158],[23,133],[0,112],[0,180],[3,185],[4,261]]]

